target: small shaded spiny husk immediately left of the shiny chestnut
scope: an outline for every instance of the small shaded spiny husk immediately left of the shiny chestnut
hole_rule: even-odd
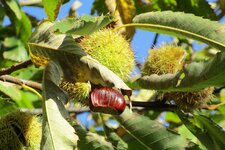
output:
[[[63,90],[69,94],[69,99],[74,102],[80,102],[82,105],[89,105],[89,93],[91,91],[91,84],[89,82],[71,83],[62,81],[59,85]]]

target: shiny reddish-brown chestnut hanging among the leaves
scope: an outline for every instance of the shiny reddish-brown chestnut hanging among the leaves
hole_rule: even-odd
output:
[[[112,115],[121,114],[126,107],[123,95],[112,88],[96,88],[90,95],[90,109]]]

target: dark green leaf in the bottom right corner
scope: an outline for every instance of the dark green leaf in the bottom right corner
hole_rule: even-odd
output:
[[[225,131],[210,118],[202,115],[188,117],[177,112],[184,125],[201,141],[207,149],[221,150],[225,147]]]

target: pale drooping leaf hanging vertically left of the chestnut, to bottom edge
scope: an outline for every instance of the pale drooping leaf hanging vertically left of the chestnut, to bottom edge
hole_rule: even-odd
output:
[[[66,94],[56,85],[59,81],[60,68],[50,62],[44,73],[43,84],[43,135],[41,149],[72,150],[77,145],[75,130],[64,119],[68,117],[63,101]]]

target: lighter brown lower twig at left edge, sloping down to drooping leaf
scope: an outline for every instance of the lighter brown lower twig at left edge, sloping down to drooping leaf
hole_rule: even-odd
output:
[[[19,84],[19,85],[25,84],[34,89],[42,90],[42,85],[38,82],[34,82],[34,81],[30,81],[30,80],[22,80],[22,79],[19,79],[19,78],[10,76],[10,75],[2,75],[2,76],[0,76],[0,80],[8,81],[8,82]]]

